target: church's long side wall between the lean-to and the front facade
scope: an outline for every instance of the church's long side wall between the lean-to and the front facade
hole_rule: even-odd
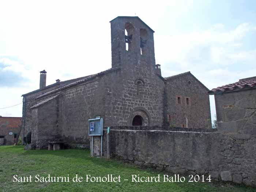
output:
[[[71,144],[88,144],[89,119],[102,116],[104,90],[101,81],[95,79],[64,90],[60,101],[60,118],[62,118],[62,138]]]

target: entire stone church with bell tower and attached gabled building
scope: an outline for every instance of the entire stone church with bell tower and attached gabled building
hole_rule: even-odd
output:
[[[104,126],[211,128],[208,89],[190,72],[163,78],[155,64],[154,31],[138,16],[110,21],[112,66],[98,74],[46,86],[23,96],[23,131],[45,148],[49,141],[89,144],[88,120]]]

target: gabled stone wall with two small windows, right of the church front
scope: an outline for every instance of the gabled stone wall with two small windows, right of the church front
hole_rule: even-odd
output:
[[[208,90],[190,73],[170,78],[166,83],[166,114],[174,127],[211,128]],[[177,97],[180,97],[178,103]],[[188,104],[187,104],[188,98]]]

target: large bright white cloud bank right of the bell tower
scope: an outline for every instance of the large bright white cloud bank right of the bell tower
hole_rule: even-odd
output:
[[[256,74],[256,50],[244,46],[248,35],[255,36],[255,29],[249,23],[229,30],[217,24],[193,33],[156,34],[156,61],[162,65],[163,76],[191,71],[208,89],[234,83]],[[214,97],[210,102],[213,118]]]

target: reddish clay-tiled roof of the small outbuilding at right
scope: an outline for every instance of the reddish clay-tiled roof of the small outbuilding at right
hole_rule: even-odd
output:
[[[245,88],[256,88],[256,77],[240,79],[236,83],[231,83],[221,87],[217,87],[215,89],[212,89],[208,93],[210,95],[213,95],[213,94],[223,93],[223,92],[245,90]]]

